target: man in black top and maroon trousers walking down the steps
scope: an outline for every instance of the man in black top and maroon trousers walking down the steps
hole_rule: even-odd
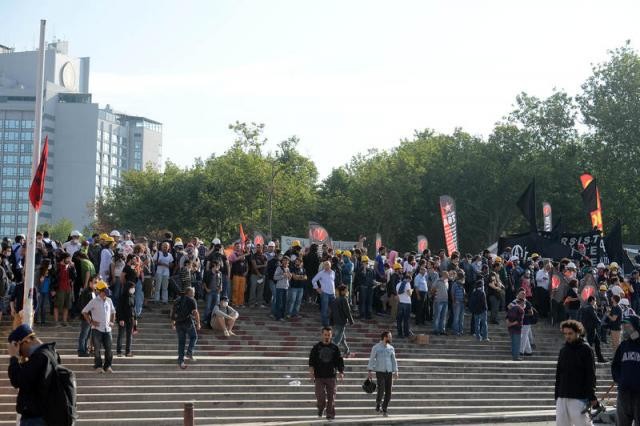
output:
[[[309,375],[315,383],[318,417],[327,409],[327,419],[336,417],[336,370],[344,381],[344,360],[340,349],[331,342],[331,327],[322,328],[322,340],[309,354]]]

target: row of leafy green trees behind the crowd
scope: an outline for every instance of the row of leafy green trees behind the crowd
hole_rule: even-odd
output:
[[[586,126],[586,127],[585,127]],[[516,96],[513,110],[487,138],[462,129],[452,134],[416,131],[390,151],[370,150],[334,169],[318,184],[314,163],[294,136],[264,152],[264,124],[236,122],[223,155],[181,169],[129,172],[97,206],[96,229],[131,228],[154,235],[226,240],[247,230],[304,235],[309,220],[334,239],[380,232],[385,245],[415,249],[416,235],[444,246],[438,199],[457,203],[459,246],[478,251],[505,233],[527,230],[516,200],[533,177],[537,198],[554,218],[583,231],[579,176],[596,176],[605,231],[617,219],[624,237],[640,233],[640,57],[627,43],[595,65],[581,93],[554,90],[547,98]],[[538,224],[541,227],[541,217]]]

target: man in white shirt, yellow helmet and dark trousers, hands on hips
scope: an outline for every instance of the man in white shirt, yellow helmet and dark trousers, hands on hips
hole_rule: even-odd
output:
[[[93,367],[98,373],[113,373],[111,369],[113,361],[111,328],[116,320],[116,308],[111,299],[107,297],[107,285],[104,282],[99,282],[96,285],[96,290],[98,290],[98,297],[94,297],[87,303],[87,306],[82,309],[82,316],[91,324],[91,339],[94,349]],[[104,346],[104,364],[100,356],[102,346]]]

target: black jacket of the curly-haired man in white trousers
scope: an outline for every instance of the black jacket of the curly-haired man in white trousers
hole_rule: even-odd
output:
[[[555,398],[596,399],[596,363],[582,338],[565,343],[556,366]]]

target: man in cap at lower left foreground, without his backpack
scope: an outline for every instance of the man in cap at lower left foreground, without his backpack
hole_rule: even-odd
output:
[[[9,380],[18,389],[16,411],[21,415],[20,424],[45,424],[43,416],[46,414],[46,406],[43,395],[47,394],[47,389],[43,389],[43,383],[47,382],[45,376],[52,372],[48,368],[48,357],[53,356],[60,362],[55,343],[43,344],[26,324],[13,330],[8,340]],[[20,359],[24,361],[21,362]]]

